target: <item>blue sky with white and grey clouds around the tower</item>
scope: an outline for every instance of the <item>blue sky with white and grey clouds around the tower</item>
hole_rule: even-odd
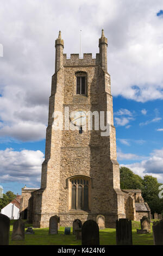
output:
[[[108,38],[117,160],[163,182],[162,0],[0,0],[0,185],[40,187],[55,39],[64,53]]]

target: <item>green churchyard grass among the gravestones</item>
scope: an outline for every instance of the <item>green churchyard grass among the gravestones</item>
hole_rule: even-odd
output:
[[[9,245],[81,245],[81,240],[76,240],[76,237],[64,235],[64,227],[60,227],[58,235],[49,235],[48,228],[34,229],[34,235],[25,235],[23,241],[11,241],[12,225],[10,225],[10,242]],[[25,227],[32,227],[32,224],[25,223]],[[140,222],[132,221],[133,228],[133,245],[153,245],[152,223],[151,233],[137,234],[136,229],[140,229]],[[100,245],[116,245],[116,229],[106,228],[99,230]]]

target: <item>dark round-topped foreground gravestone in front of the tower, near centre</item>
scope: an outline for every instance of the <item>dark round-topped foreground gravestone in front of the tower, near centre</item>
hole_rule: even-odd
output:
[[[99,228],[96,221],[89,220],[82,225],[82,245],[99,245]]]

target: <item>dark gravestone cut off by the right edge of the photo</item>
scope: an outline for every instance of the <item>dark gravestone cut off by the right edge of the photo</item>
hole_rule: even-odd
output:
[[[163,245],[163,220],[153,222],[154,245]]]

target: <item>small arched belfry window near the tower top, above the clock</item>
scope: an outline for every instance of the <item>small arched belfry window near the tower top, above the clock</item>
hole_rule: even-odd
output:
[[[76,72],[76,94],[86,95],[86,72],[78,71]]]

